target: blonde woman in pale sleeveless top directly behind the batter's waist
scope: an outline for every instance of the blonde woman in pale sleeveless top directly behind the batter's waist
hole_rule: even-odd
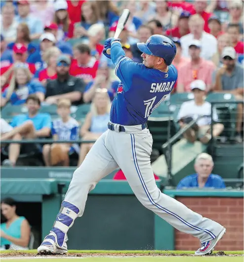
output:
[[[91,110],[86,115],[84,124],[81,127],[83,140],[97,140],[108,129],[110,108],[111,102],[107,90],[97,89],[92,101]],[[84,161],[92,145],[93,143],[81,143],[78,166]]]

